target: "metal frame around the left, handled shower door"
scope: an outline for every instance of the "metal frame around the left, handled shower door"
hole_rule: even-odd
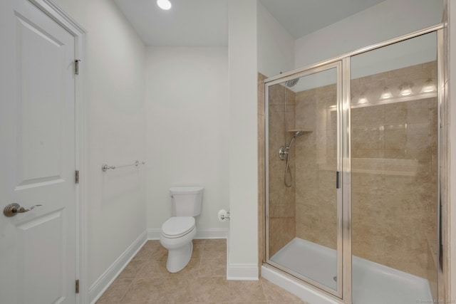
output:
[[[324,70],[331,70],[332,68],[336,68],[336,107],[337,107],[337,152],[336,152],[336,159],[337,159],[337,164],[336,164],[336,172],[340,172],[341,174],[341,179],[340,182],[343,185],[343,179],[344,179],[344,174],[343,174],[343,162],[342,162],[342,151],[343,151],[343,138],[341,138],[341,130],[343,127],[343,117],[342,114],[343,112],[341,109],[343,108],[343,84],[342,84],[342,78],[343,78],[343,65],[342,61],[333,61],[331,63],[327,63],[324,65],[319,65],[315,68],[306,68],[304,70],[297,70],[296,73],[293,73],[291,75],[288,75],[286,77],[281,77],[276,80],[268,81],[268,79],[264,80],[264,100],[265,100],[265,107],[264,107],[264,115],[265,117],[269,117],[269,87],[271,85],[277,85],[279,83],[284,83],[288,80],[293,80],[295,78],[301,78],[307,75],[312,75],[316,74],[319,72],[323,72]],[[269,121],[269,120],[266,120]],[[269,138],[269,124],[265,124],[265,140]],[[265,175],[266,177],[269,176],[269,144],[266,144],[265,142]],[[336,183],[335,183],[336,184]],[[333,290],[329,288],[326,285],[323,285],[322,283],[318,283],[317,281],[312,280],[311,278],[308,278],[306,276],[302,276],[300,273],[296,273],[292,269],[286,268],[284,266],[279,265],[278,263],[274,263],[273,261],[270,260],[269,256],[269,179],[265,179],[265,200],[266,200],[266,205],[265,205],[265,224],[266,224],[266,229],[265,229],[265,258],[266,258],[266,263],[268,263],[271,266],[274,266],[275,268],[278,268],[280,271],[284,271],[285,273],[289,273],[291,276],[294,276],[296,278],[299,278],[302,281],[305,281],[307,283],[310,283],[311,285],[314,285],[317,288],[320,288],[321,290],[326,291],[326,293],[330,293],[331,295],[334,295],[336,298],[341,299],[343,297],[343,280],[338,280],[336,282],[336,290]],[[337,277],[342,278],[343,276],[343,223],[346,222],[346,220],[343,219],[343,209],[342,209],[342,204],[343,204],[343,187],[339,187],[336,189],[336,204],[337,204]]]

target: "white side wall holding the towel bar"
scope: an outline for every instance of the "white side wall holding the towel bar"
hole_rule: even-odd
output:
[[[56,0],[87,34],[88,282],[146,229],[145,167],[101,164],[145,158],[145,46],[110,0]]]

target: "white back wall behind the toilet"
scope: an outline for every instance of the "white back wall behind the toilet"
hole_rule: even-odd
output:
[[[200,185],[197,237],[226,235],[217,211],[229,209],[227,47],[148,47],[146,92],[147,228],[170,217],[170,187]]]

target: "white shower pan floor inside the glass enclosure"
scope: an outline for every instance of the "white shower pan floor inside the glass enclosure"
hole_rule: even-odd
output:
[[[295,238],[271,261],[336,289],[336,250]],[[432,301],[425,278],[353,256],[353,303],[412,304]],[[304,299],[305,300],[305,299]]]

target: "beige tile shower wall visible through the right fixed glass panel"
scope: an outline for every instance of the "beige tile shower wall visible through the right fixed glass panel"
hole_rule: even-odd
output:
[[[413,95],[436,63],[425,63],[352,81],[352,98],[378,99],[385,86]],[[368,91],[367,91],[368,89]],[[437,224],[437,98],[351,111],[353,254],[427,277],[428,236]]]

